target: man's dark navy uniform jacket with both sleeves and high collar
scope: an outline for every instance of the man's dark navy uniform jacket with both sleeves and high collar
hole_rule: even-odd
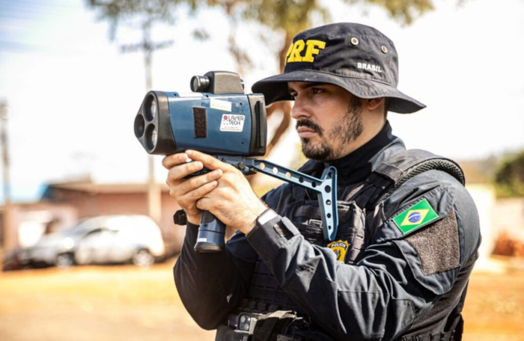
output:
[[[337,167],[338,190],[362,183],[404,149],[386,123],[371,141],[329,163]],[[308,162],[305,168],[319,166],[324,168]],[[281,213],[303,202],[293,197],[293,187],[283,184],[263,199]],[[424,199],[438,218],[402,233],[393,218]],[[355,264],[337,261],[330,248],[311,244],[291,224],[285,234],[271,224],[255,227],[248,236],[236,233],[224,252],[199,254],[193,250],[198,227],[188,224],[174,267],[178,293],[196,323],[216,328],[246,297],[260,258],[301,310],[335,339],[446,331],[453,312],[460,314],[481,239],[473,200],[454,177],[432,170],[409,179],[380,204],[379,212],[380,226],[366,226],[375,232]]]

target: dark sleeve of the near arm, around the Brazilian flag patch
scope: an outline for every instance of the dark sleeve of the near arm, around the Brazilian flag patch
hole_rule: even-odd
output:
[[[408,180],[388,198],[386,219],[355,265],[337,261],[329,248],[310,244],[280,216],[257,226],[247,240],[279,285],[336,339],[398,337],[451,290],[478,247],[478,219],[471,198],[463,187],[453,184],[454,179],[449,179],[451,185],[434,183],[429,173]],[[394,218],[421,200],[428,200],[438,217],[402,233]],[[436,233],[442,226],[447,232]],[[431,245],[431,238],[408,241],[420,239],[423,231],[435,232],[440,243]],[[466,239],[471,240],[467,245]],[[431,247],[435,250],[430,256],[420,254]],[[434,257],[447,254],[452,259],[444,259],[442,267]]]

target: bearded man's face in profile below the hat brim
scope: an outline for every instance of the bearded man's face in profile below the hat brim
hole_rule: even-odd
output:
[[[288,88],[304,155],[319,161],[347,155],[363,131],[360,99],[333,84],[288,82]]]

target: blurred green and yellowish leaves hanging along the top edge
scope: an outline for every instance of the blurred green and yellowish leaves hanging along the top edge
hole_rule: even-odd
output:
[[[348,5],[363,3],[383,7],[392,18],[403,24],[411,24],[417,14],[422,15],[433,9],[432,0],[343,1]],[[329,9],[322,6],[319,0],[85,0],[85,2],[89,8],[97,12],[99,19],[110,22],[111,39],[114,39],[119,24],[141,15],[153,21],[172,24],[175,20],[172,13],[180,5],[189,6],[192,13],[204,6],[221,7],[233,21],[254,20],[271,30],[284,33],[285,40],[290,40],[299,31],[309,28],[313,16],[320,17],[323,22],[328,22],[331,18]]]

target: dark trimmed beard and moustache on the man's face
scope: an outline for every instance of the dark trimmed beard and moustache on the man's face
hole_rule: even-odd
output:
[[[360,99],[352,97],[343,122],[331,127],[327,132],[324,132],[318,124],[308,119],[298,120],[296,127],[298,128],[299,126],[307,126],[314,130],[320,138],[318,142],[312,142],[309,138],[300,139],[302,142],[302,153],[304,153],[305,157],[317,161],[332,160],[337,157],[334,145],[339,143],[340,147],[342,147],[344,144],[354,141],[364,130]]]

